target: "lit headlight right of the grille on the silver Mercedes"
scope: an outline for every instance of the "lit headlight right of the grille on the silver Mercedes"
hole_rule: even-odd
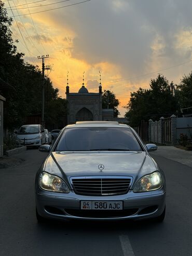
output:
[[[155,171],[142,177],[138,182],[136,182],[133,192],[147,192],[158,190],[162,186],[161,174]]]

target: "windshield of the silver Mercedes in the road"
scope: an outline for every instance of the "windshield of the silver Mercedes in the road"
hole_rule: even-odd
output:
[[[130,128],[65,129],[55,151],[142,151]]]

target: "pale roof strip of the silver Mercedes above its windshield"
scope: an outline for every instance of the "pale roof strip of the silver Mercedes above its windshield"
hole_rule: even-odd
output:
[[[130,128],[125,124],[110,121],[89,121],[89,122],[76,122],[74,125],[67,125],[66,128],[84,128],[84,127],[116,127],[116,128]]]

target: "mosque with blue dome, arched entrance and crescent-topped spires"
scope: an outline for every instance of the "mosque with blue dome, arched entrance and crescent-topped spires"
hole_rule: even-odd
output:
[[[67,124],[75,124],[77,121],[113,121],[113,109],[102,109],[102,86],[100,74],[100,86],[98,93],[89,92],[83,85],[78,92],[70,92],[66,86],[66,100],[67,100]]]

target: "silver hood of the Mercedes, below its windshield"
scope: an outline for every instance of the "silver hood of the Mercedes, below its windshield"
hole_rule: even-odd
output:
[[[104,169],[100,171],[99,165]],[[141,177],[157,170],[146,152],[52,152],[45,171],[69,179],[75,176],[119,175]]]

